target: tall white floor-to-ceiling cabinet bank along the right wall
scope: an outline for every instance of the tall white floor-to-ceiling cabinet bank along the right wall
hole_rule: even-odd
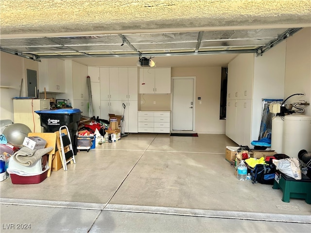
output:
[[[239,145],[251,146],[254,54],[240,54],[228,64],[225,134]]]

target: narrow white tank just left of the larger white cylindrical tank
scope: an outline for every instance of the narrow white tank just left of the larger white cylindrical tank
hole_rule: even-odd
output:
[[[274,116],[271,127],[271,150],[275,150],[278,154],[283,153],[283,127],[284,117]]]

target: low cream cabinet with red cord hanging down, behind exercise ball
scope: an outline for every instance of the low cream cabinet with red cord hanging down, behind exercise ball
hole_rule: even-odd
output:
[[[14,123],[27,125],[33,133],[43,133],[38,110],[49,110],[50,100],[18,99],[13,100]]]

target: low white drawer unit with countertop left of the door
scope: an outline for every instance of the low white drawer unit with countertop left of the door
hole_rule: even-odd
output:
[[[139,133],[170,133],[169,111],[138,111]]]

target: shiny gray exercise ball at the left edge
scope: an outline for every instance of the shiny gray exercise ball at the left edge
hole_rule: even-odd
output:
[[[8,125],[3,130],[3,135],[5,136],[8,144],[12,145],[22,145],[25,137],[27,137],[28,133],[31,133],[31,129],[27,125],[21,123],[14,123]]]

